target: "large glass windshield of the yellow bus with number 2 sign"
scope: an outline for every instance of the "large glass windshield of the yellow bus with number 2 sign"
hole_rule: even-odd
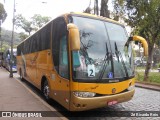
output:
[[[115,82],[134,76],[132,47],[125,27],[112,22],[73,16],[81,48],[72,52],[73,79]]]

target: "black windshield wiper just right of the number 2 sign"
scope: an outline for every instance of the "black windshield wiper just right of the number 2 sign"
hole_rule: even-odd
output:
[[[107,42],[106,42],[106,55],[105,55],[103,63],[102,63],[102,70],[101,70],[100,75],[98,77],[99,82],[103,78],[103,75],[104,75],[104,72],[106,70],[107,64],[109,64],[109,61],[110,61],[111,57],[112,57],[112,55],[111,55],[110,52],[108,52],[108,45],[107,45]]]

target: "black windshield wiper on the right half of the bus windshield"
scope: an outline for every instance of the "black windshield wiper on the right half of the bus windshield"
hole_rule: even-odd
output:
[[[116,54],[116,57],[117,57],[117,59],[118,59],[118,62],[120,62],[119,58],[121,59],[122,65],[123,65],[124,70],[125,70],[125,73],[126,73],[126,77],[128,78],[129,75],[128,75],[127,67],[126,67],[126,65],[125,65],[125,63],[124,63],[124,60],[123,60],[123,57],[122,57],[121,52],[118,50],[118,47],[117,47],[116,42],[115,42],[115,54]]]

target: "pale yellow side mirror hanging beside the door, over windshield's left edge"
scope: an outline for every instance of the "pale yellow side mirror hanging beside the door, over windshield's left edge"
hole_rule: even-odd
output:
[[[67,25],[69,31],[69,43],[71,50],[80,50],[80,35],[76,25],[69,23]]]

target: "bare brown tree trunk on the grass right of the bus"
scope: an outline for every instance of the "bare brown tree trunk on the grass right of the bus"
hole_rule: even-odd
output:
[[[148,81],[149,70],[151,69],[152,59],[153,59],[153,47],[154,45],[152,44],[148,45],[148,60],[147,60],[147,65],[146,65],[143,81]]]

